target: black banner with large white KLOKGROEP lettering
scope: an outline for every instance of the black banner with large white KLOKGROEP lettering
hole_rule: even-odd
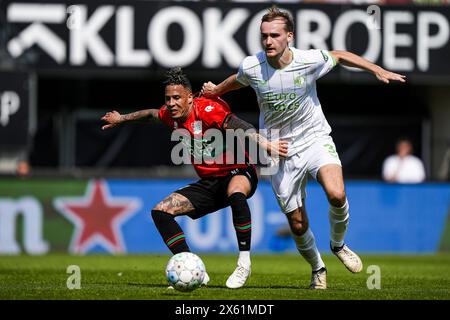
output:
[[[260,49],[267,3],[3,1],[3,50],[45,69],[230,73]],[[450,78],[450,7],[283,4],[300,49],[349,50],[414,79]],[[344,70],[337,76],[350,71]],[[351,72],[354,73],[355,72]],[[411,80],[411,78],[410,78]]]

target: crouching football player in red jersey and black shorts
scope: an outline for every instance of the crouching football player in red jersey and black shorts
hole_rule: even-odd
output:
[[[160,109],[141,110],[125,115],[117,111],[108,112],[102,117],[107,122],[102,129],[128,121],[158,119],[172,130],[177,130],[180,143],[188,146],[191,163],[201,179],[178,189],[158,203],[152,210],[153,221],[173,254],[189,252],[185,235],[175,221],[175,216],[188,215],[192,219],[198,219],[231,206],[239,258],[237,268],[228,278],[226,286],[240,288],[251,272],[251,215],[247,199],[254,194],[258,177],[243,149],[244,161],[235,161],[234,147],[224,143],[221,148],[213,148],[214,139],[205,138],[205,133],[208,130],[220,130],[223,133],[222,141],[225,141],[225,130],[242,129],[246,136],[269,154],[281,157],[287,155],[287,143],[268,141],[255,130],[249,130],[254,129],[253,126],[235,116],[228,104],[220,98],[194,98],[189,79],[181,68],[170,69],[164,83],[166,102]],[[208,281],[209,277],[206,275],[203,284]]]

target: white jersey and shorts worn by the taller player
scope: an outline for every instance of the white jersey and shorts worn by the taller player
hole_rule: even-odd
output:
[[[280,159],[279,170],[271,176],[285,213],[302,206],[308,173],[316,179],[322,166],[341,165],[316,91],[316,80],[336,62],[326,50],[290,49],[292,62],[283,69],[273,68],[261,51],[245,58],[237,74],[239,83],[256,92],[260,128],[267,130],[267,138],[289,143],[288,157]]]

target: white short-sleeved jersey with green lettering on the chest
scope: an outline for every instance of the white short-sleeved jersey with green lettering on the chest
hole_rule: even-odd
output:
[[[269,139],[289,141],[289,155],[330,134],[317,98],[316,80],[336,64],[326,50],[291,51],[292,62],[283,69],[273,68],[261,51],[246,57],[237,74],[242,85],[251,86],[256,92],[260,127],[267,129]]]

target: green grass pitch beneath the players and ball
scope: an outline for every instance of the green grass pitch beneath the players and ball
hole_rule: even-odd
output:
[[[362,256],[364,270],[352,274],[334,256],[324,256],[328,289],[308,290],[309,266],[299,255],[253,255],[252,276],[242,289],[225,281],[236,257],[201,255],[211,282],[191,293],[168,290],[169,255],[2,256],[0,299],[293,300],[364,299],[450,300],[450,255]],[[81,271],[81,288],[69,290],[69,265]],[[367,267],[380,268],[380,289],[369,290]]]

